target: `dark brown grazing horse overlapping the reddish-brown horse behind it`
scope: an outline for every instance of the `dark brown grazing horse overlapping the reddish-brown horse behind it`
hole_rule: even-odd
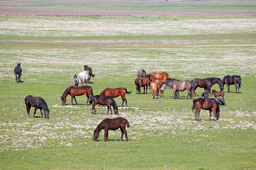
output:
[[[92,98],[90,98],[89,101],[90,104],[93,103],[93,107],[92,107],[92,114],[96,114],[96,109],[95,109],[95,105],[96,104],[100,104],[100,105],[107,105],[108,106],[108,112],[107,114],[109,114],[109,109],[111,111],[111,114],[113,114],[111,106],[114,109],[114,113],[118,114],[118,108],[117,108],[117,103],[115,103],[115,100],[113,99],[112,96],[100,96],[100,95],[96,95],[93,96]],[[94,111],[94,112],[93,112]]]

